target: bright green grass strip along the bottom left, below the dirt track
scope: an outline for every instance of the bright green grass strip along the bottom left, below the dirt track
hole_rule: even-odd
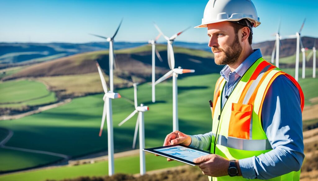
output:
[[[184,165],[172,161],[167,162],[163,157],[156,157],[153,154],[146,154],[146,171],[157,170],[167,167]],[[130,156],[115,159],[115,173],[139,173],[139,156]],[[97,162],[94,164],[63,166],[54,169],[31,171],[26,173],[10,174],[0,177],[0,181],[32,180],[43,181],[46,179],[76,178],[80,176],[104,176],[108,174],[108,162]]]

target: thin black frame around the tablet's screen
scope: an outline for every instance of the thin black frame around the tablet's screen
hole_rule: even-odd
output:
[[[200,152],[212,154],[212,153],[207,152],[207,151],[204,151],[204,150],[199,150],[199,149],[197,149],[197,148],[192,148],[192,147],[185,146],[185,145],[180,145],[180,144],[178,144],[178,145],[160,146],[160,147],[155,147],[155,148],[145,148],[145,149],[143,149],[143,151],[145,151],[145,152],[150,152],[150,153],[154,153],[154,154],[157,154],[157,155],[160,155],[160,156],[163,156],[163,157],[166,157],[166,158],[170,158],[170,159],[173,159],[173,160],[176,160],[176,161],[179,161],[179,162],[188,164],[188,165],[192,165],[192,166],[197,165],[197,164],[194,163],[194,162],[191,162],[191,161],[188,161],[188,160],[185,160],[185,159],[182,159],[182,158],[178,158],[178,157],[175,157],[175,156],[173,156],[173,155],[169,155],[169,154],[166,154],[166,153],[162,153],[162,152],[156,151],[157,149],[169,148],[169,147],[174,147],[174,146],[183,146],[183,147],[185,147],[185,148],[189,148],[189,149],[192,149],[192,150],[196,150],[196,151],[200,151]]]

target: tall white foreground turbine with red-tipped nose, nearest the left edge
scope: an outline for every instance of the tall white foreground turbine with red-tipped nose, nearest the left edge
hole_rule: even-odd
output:
[[[96,63],[98,73],[100,74],[100,80],[101,84],[104,89],[104,109],[103,109],[103,116],[101,119],[101,125],[100,125],[100,133],[99,136],[101,136],[101,133],[103,131],[104,123],[105,123],[105,117],[107,119],[107,133],[108,133],[108,175],[112,176],[114,175],[114,136],[113,136],[113,110],[112,110],[112,104],[111,100],[116,98],[121,98],[121,95],[118,93],[114,93],[113,91],[108,91],[106,81],[104,79],[103,73],[100,69],[100,66],[98,63]]]

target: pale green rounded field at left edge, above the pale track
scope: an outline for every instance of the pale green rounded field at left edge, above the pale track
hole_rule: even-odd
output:
[[[55,94],[37,81],[17,80],[0,84],[0,107],[33,106],[55,100]]]

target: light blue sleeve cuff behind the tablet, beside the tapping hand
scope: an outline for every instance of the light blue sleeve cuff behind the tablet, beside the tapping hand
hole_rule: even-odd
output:
[[[190,147],[210,152],[212,132],[205,133],[205,134],[197,134],[192,136],[190,135],[190,137],[191,137],[191,144],[189,145]]]

